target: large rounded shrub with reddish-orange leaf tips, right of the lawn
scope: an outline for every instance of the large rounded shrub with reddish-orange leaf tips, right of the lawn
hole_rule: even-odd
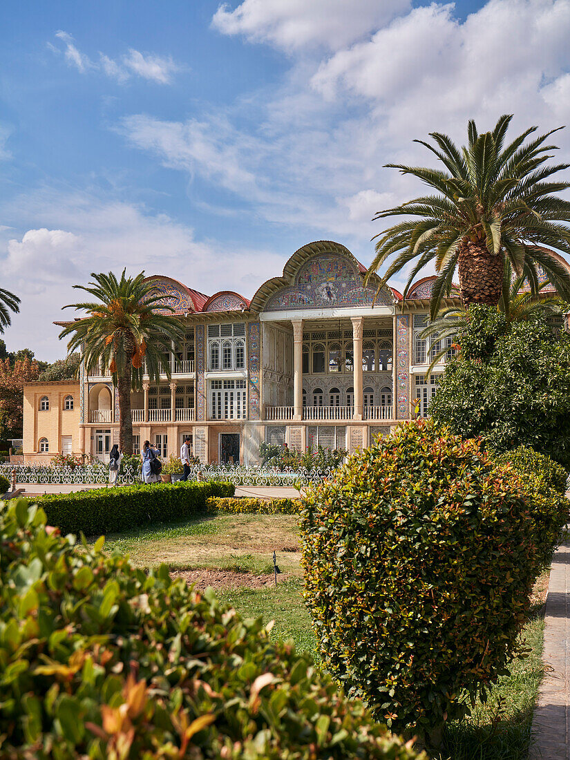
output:
[[[538,563],[517,481],[416,420],[309,489],[300,526],[327,667],[378,720],[435,741],[506,672],[524,624]]]

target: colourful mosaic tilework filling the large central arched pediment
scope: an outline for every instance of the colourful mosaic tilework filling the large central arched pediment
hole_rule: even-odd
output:
[[[294,287],[283,288],[268,300],[265,311],[323,309],[339,306],[372,306],[373,287],[363,287],[349,259],[339,255],[315,256],[299,271]],[[388,288],[379,293],[378,306],[392,303]]]

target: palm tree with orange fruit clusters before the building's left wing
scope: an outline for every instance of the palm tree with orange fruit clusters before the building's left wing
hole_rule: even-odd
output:
[[[115,274],[94,274],[95,282],[74,285],[98,299],[97,302],[74,303],[74,308],[88,316],[69,323],[59,337],[71,335],[68,350],[81,350],[87,372],[99,363],[109,367],[112,382],[119,391],[119,447],[132,454],[131,388],[141,388],[143,360],[150,380],[157,382],[160,372],[170,377],[170,368],[163,363],[170,353],[171,341],[183,335],[179,318],[163,312],[173,309],[165,306],[164,296],[157,294],[154,285],[144,280],[144,272],[136,277],[121,279]]]

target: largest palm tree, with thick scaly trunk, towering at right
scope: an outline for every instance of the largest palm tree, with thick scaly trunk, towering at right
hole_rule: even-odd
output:
[[[492,132],[479,135],[475,122],[468,125],[468,144],[461,150],[439,132],[431,132],[438,147],[422,140],[439,158],[445,169],[403,166],[389,163],[402,174],[418,177],[436,195],[426,195],[386,211],[374,219],[406,215],[404,220],[376,235],[376,255],[367,278],[386,259],[395,255],[379,287],[395,272],[415,261],[404,299],[416,274],[435,264],[438,274],[430,304],[435,318],[442,298],[451,292],[458,269],[461,299],[496,306],[502,295],[505,259],[518,277],[526,277],[532,293],[538,288],[542,268],[560,296],[570,296],[570,273],[542,246],[570,253],[570,202],[555,195],[570,182],[545,181],[570,164],[546,165],[551,158],[546,145],[553,129],[527,141],[537,130],[530,127],[503,147],[512,116],[501,116]],[[373,239],[375,239],[373,238]]]

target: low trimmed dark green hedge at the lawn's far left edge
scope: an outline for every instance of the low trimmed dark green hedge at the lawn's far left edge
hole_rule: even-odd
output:
[[[206,511],[211,496],[233,496],[231,483],[151,483],[49,494],[28,503],[39,504],[50,525],[62,534],[95,536],[150,523],[179,522]]]

